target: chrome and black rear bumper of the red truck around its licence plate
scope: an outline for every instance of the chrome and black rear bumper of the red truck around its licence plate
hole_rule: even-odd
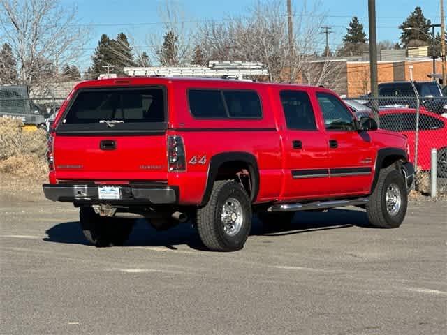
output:
[[[82,204],[175,204],[178,188],[175,186],[119,185],[121,199],[99,199],[95,184],[43,184],[43,193],[52,201]]]

